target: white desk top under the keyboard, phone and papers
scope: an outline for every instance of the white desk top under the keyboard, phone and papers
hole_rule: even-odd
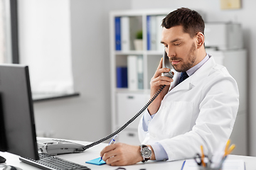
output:
[[[38,138],[38,139],[45,139],[45,138]],[[82,141],[75,141],[75,140],[70,140],[72,142],[77,142],[82,145],[87,145],[90,144],[90,142],[82,142]],[[107,144],[102,143],[100,145],[96,145],[94,147],[91,147],[90,149],[85,150],[85,152],[81,153],[76,153],[76,154],[63,154],[63,155],[58,155],[58,157],[62,159],[66,159],[70,162],[75,162],[77,164],[81,164],[84,166],[87,166],[88,168],[94,170],[94,169],[117,169],[119,166],[109,166],[107,164],[97,166],[97,165],[92,165],[92,164],[85,164],[86,161],[89,161],[91,159],[95,159],[97,157],[100,157],[100,151],[107,146]],[[7,152],[0,152],[0,156],[6,158],[6,164],[12,165],[12,166],[17,166],[20,167],[23,170],[35,170],[38,169],[35,166],[31,166],[28,164],[25,164],[21,162],[18,159],[18,156],[15,154],[9,154]],[[255,162],[256,162],[256,157],[245,157],[245,156],[238,156],[238,155],[229,155],[228,159],[243,159],[245,161],[245,166],[246,170],[252,170],[255,169]],[[154,162],[154,161],[149,161],[146,162],[145,164],[142,162],[139,162],[138,164],[134,165],[129,165],[129,166],[122,166],[127,170],[139,170],[139,169],[146,169],[146,170],[155,170],[155,169],[172,169],[172,170],[180,170],[181,166],[183,164],[183,160],[180,161],[174,161],[174,162]]]

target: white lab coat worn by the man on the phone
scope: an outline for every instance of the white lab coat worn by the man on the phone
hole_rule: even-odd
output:
[[[175,72],[175,71],[174,71]],[[213,153],[220,142],[227,142],[238,113],[239,94],[235,79],[213,57],[191,77],[164,96],[159,111],[145,132],[139,123],[139,140],[150,145],[159,142],[169,161]]]

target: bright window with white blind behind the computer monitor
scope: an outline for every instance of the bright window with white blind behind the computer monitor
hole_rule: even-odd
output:
[[[0,0],[0,15],[0,63],[28,65],[33,98],[74,94],[69,0]]]

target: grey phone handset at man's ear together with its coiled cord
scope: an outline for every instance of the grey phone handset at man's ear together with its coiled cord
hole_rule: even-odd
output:
[[[165,51],[164,51],[164,57],[166,57],[166,58],[165,58],[165,59],[163,58],[163,67],[166,67],[166,68],[171,69],[171,63],[169,62],[169,57],[166,55],[166,52],[165,52]],[[167,64],[167,63],[169,63],[169,64]],[[159,64],[159,66],[161,66],[161,63]],[[161,69],[161,68],[158,67],[156,72],[158,72],[159,69]],[[170,70],[169,72],[167,72],[166,75],[164,75],[164,76],[167,76],[167,74],[168,74],[168,77],[170,77],[170,78],[174,77],[173,74],[171,73],[171,70]],[[156,75],[156,74],[155,74],[155,75]],[[155,75],[154,75],[154,77],[155,77]],[[134,117],[132,117],[130,120],[128,120],[128,122],[125,123],[121,128],[119,128],[118,130],[112,132],[112,134],[110,134],[110,135],[108,135],[108,136],[106,136],[106,137],[103,137],[101,140],[97,140],[97,141],[95,141],[95,142],[92,142],[92,143],[89,144],[89,145],[86,145],[85,147],[83,147],[83,149],[85,150],[85,149],[88,149],[88,148],[93,147],[93,146],[95,146],[95,145],[98,145],[98,144],[100,144],[101,142],[104,142],[105,140],[110,139],[110,138],[113,137],[114,135],[117,135],[119,132],[121,132],[122,130],[124,130],[124,128],[126,128],[126,127],[127,127],[130,123],[132,123],[137,117],[139,117],[139,115],[141,115],[141,114],[146,110],[146,108],[148,108],[148,106],[154,101],[154,99],[155,99],[157,96],[159,96],[160,92],[164,89],[165,86],[166,86],[166,85],[161,85],[161,86],[160,86],[160,89],[158,89],[158,90],[156,91],[156,93],[154,94],[154,96],[151,97],[151,99],[149,100],[149,102],[146,103],[146,105],[142,108],[142,110],[140,110],[136,115],[134,115]]]

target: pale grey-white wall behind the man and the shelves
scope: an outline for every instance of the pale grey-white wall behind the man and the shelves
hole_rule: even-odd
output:
[[[55,0],[57,1],[57,0]],[[61,4],[62,0],[58,0]],[[70,0],[72,72],[77,98],[35,103],[36,128],[54,131],[53,137],[97,140],[110,133],[109,17],[114,9],[180,8],[206,12],[206,21],[242,24],[248,52],[249,76],[256,72],[256,1],[243,0],[239,10],[220,10],[216,0]],[[51,6],[49,2],[49,6]],[[19,23],[21,24],[21,23]],[[21,49],[20,49],[21,50]],[[241,59],[242,60],[242,59]],[[97,64],[95,64],[97,63]],[[253,76],[252,76],[253,77]],[[250,155],[256,156],[256,80],[249,80]]]

